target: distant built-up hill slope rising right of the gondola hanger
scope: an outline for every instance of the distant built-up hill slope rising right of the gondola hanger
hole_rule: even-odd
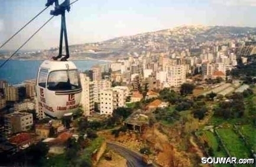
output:
[[[235,26],[179,26],[173,29],[147,32],[132,36],[121,36],[93,44],[75,45],[71,48],[102,53],[102,56],[127,55],[133,52],[175,52],[199,48],[200,44],[212,44],[230,39],[250,39],[256,28]],[[95,54],[95,53],[94,53]],[[136,55],[136,54],[135,54]]]

